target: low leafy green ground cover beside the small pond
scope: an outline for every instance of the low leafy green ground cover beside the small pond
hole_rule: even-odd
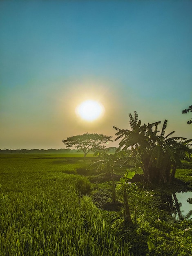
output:
[[[130,252],[141,256],[190,255],[192,249],[191,220],[176,222],[170,211],[162,209],[162,191],[165,194],[170,193],[169,186],[159,187],[131,182],[126,184],[126,188],[132,219],[134,219],[136,209],[136,229],[131,230],[123,226],[123,214],[119,215],[118,219],[114,215],[113,226],[119,228],[121,235],[129,243]],[[120,201],[123,200],[122,192],[119,189],[117,193],[117,199]],[[154,244],[152,252],[147,246],[148,241]]]

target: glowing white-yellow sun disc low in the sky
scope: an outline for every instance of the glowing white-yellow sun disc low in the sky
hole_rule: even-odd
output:
[[[86,121],[94,121],[104,112],[104,107],[97,101],[83,101],[76,108],[76,114]]]

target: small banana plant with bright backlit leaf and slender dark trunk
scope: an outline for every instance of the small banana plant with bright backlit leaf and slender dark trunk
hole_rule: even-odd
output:
[[[123,204],[124,204],[124,220],[125,223],[133,224],[132,218],[131,218],[131,213],[129,210],[129,203],[128,203],[128,196],[127,196],[127,189],[126,189],[126,183],[127,179],[132,179],[135,175],[134,171],[127,170],[125,175],[120,179],[120,183],[117,184],[116,190],[121,189],[123,186]]]

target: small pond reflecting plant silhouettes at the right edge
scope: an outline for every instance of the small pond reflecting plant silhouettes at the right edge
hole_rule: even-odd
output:
[[[192,220],[192,192],[173,193],[161,195],[161,209],[165,209],[175,220]]]

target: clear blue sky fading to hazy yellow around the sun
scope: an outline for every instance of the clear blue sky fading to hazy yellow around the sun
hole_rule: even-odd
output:
[[[0,1],[0,149],[115,139],[134,111],[192,138],[191,13],[190,0]],[[90,99],[105,108],[92,122],[75,111]]]

